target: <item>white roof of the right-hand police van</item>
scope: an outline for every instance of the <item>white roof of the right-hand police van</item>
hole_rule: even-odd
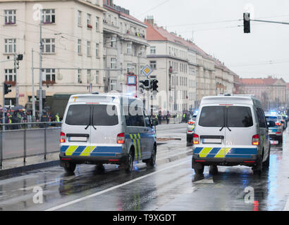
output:
[[[232,96],[206,96],[202,98],[201,105],[207,104],[246,104],[256,105],[262,108],[260,101],[249,95],[232,95]]]

